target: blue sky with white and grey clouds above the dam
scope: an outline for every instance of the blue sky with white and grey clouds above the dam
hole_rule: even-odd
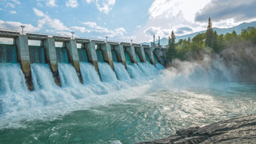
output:
[[[0,29],[142,43],[256,20],[255,0],[0,0]]]

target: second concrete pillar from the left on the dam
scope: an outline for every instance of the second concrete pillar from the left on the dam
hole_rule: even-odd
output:
[[[46,61],[50,65],[54,81],[58,86],[61,86],[54,38],[47,38],[43,40],[43,48],[46,51]]]

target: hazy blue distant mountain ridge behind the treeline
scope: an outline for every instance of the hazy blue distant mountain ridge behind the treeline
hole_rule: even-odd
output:
[[[227,34],[227,33],[232,33],[232,31],[236,31],[236,34],[241,34],[242,29],[247,29],[247,27],[256,27],[256,21],[254,22],[243,22],[242,24],[239,24],[235,27],[230,27],[230,28],[224,28],[220,29],[217,27],[214,27],[213,30],[217,31],[217,34]],[[206,31],[198,31],[193,34],[187,34],[184,36],[177,36],[176,41],[179,41],[180,39],[187,39],[187,38],[194,38],[196,34],[204,33]],[[159,41],[156,41],[158,43]],[[141,43],[142,45],[150,45],[150,43]],[[160,40],[161,45],[168,45],[168,38],[161,38]]]

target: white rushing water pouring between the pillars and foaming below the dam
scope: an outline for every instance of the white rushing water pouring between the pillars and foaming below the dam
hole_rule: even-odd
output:
[[[92,64],[81,63],[84,83],[81,85],[71,64],[58,64],[62,84],[62,87],[58,87],[48,64],[32,64],[34,92],[29,92],[20,65],[1,64],[0,127],[17,127],[22,119],[54,119],[74,110],[140,96],[149,89],[151,81],[135,78],[144,75],[136,64],[128,67],[133,69],[133,73],[128,73],[121,63],[114,63],[116,73],[109,64],[99,63],[101,82]],[[132,80],[130,75],[135,79]]]

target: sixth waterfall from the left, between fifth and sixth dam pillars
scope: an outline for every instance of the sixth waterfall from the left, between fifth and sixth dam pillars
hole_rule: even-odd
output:
[[[119,80],[130,80],[130,76],[122,63],[114,62],[114,71]]]

